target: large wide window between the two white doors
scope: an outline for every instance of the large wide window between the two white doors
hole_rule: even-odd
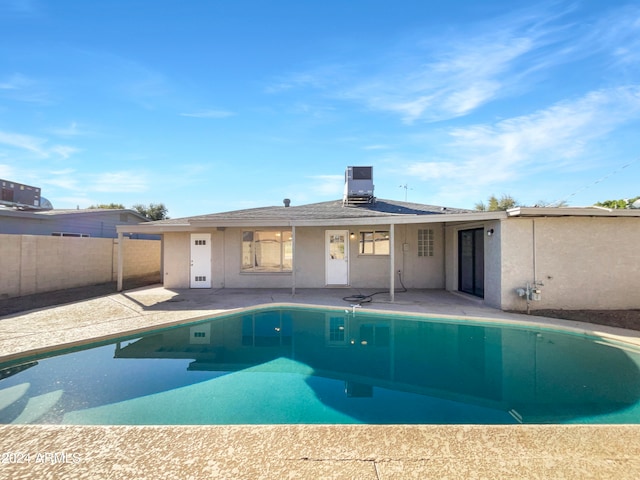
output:
[[[292,264],[291,230],[242,232],[242,272],[290,272]]]

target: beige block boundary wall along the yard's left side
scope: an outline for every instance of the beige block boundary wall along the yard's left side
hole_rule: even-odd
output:
[[[160,242],[124,239],[124,277],[160,271]],[[0,298],[108,283],[117,278],[117,240],[0,235]]]

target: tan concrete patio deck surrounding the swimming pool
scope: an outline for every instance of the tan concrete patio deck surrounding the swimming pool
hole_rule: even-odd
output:
[[[0,317],[0,362],[248,306],[348,307],[350,289],[142,288]],[[371,292],[362,292],[371,293]],[[562,326],[640,345],[640,332],[509,314],[444,291],[384,295],[363,309]],[[28,453],[27,457],[20,453]],[[0,426],[11,478],[640,477],[637,425]],[[12,456],[13,455],[13,456]]]

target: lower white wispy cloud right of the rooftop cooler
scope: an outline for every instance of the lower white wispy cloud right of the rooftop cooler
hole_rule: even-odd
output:
[[[413,162],[425,181],[483,187],[539,171],[572,168],[597,139],[640,119],[640,86],[598,90],[531,115],[449,130],[442,160]]]

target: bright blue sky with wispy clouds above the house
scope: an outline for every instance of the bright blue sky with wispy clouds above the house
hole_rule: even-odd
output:
[[[2,0],[0,178],[170,217],[640,195],[640,4]],[[406,186],[407,188],[403,188]]]

